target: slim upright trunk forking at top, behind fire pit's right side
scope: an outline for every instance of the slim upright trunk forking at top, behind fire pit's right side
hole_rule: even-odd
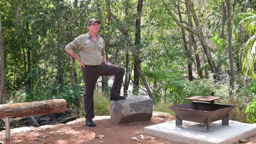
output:
[[[231,4],[230,0],[225,0],[226,7],[228,11],[228,20],[227,20],[227,29],[228,29],[228,55],[229,55],[229,64],[230,64],[230,91],[229,94],[232,96],[234,92],[234,59],[233,59],[233,52],[232,52],[232,33],[231,33],[231,19],[232,19],[232,12],[231,12]],[[235,0],[234,0],[235,2]],[[234,12],[234,4],[233,4],[233,12]]]

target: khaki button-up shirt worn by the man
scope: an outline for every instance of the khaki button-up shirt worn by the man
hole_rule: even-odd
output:
[[[105,41],[97,35],[96,42],[93,41],[89,32],[80,35],[70,42],[65,50],[78,50],[83,65],[100,65],[105,52]]]

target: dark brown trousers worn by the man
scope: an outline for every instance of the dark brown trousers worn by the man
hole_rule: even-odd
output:
[[[82,67],[82,72],[85,82],[85,94],[83,95],[85,119],[91,119],[94,118],[93,92],[98,78],[100,76],[115,76],[110,94],[120,94],[125,70],[122,66],[100,65]]]

